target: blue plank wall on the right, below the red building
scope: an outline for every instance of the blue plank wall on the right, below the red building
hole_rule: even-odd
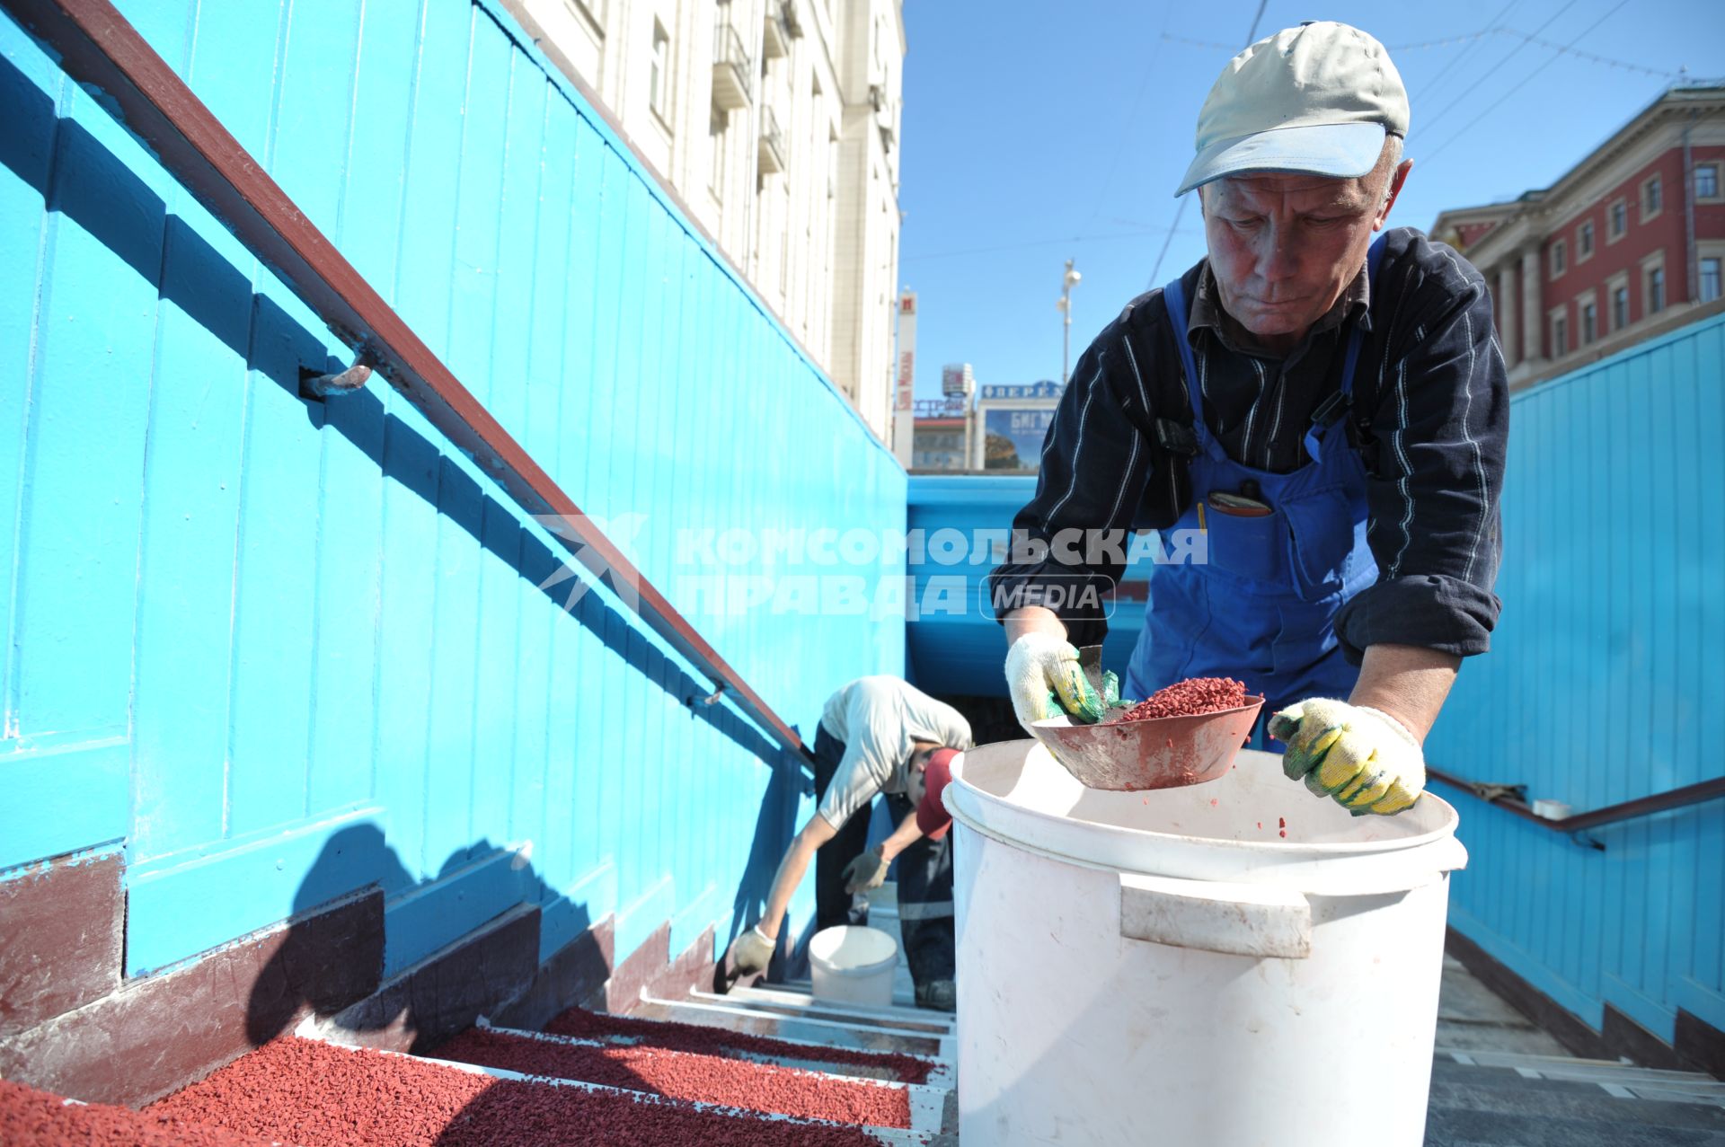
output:
[[[1577,812],[1725,774],[1725,319],[1511,407],[1504,611],[1428,743]],[[1725,1028],[1725,804],[1601,828],[1604,852],[1437,787],[1471,854],[1452,923],[1596,1028]]]

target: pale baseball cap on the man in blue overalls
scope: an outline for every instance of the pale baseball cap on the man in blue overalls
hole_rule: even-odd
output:
[[[1390,53],[1349,24],[1308,21],[1228,60],[1175,195],[1245,172],[1354,179],[1377,167],[1389,135],[1408,135],[1408,88]]]

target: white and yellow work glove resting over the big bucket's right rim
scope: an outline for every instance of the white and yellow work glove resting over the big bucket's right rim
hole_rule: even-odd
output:
[[[1378,709],[1314,697],[1271,716],[1270,735],[1287,742],[1289,780],[1304,780],[1354,816],[1402,812],[1425,788],[1420,742]]]

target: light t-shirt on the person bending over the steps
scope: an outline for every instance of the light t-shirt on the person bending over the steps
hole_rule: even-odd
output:
[[[906,790],[911,742],[971,747],[969,721],[957,709],[890,676],[857,678],[828,697],[821,726],[845,745],[819,807],[833,828],[844,828],[875,793]]]

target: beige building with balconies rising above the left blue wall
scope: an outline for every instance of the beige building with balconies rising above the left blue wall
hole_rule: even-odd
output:
[[[505,0],[883,442],[902,0]]]

